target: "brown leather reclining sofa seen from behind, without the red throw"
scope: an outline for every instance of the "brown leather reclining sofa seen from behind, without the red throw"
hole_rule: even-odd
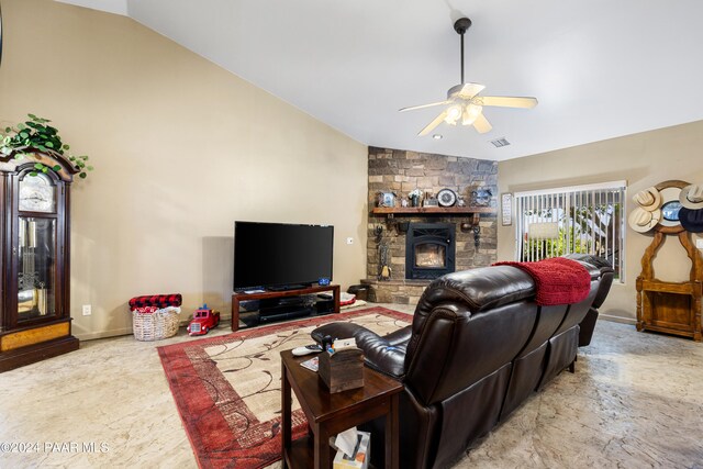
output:
[[[528,273],[492,266],[434,280],[412,325],[390,335],[350,323],[326,324],[312,335],[355,337],[367,366],[404,383],[400,467],[448,467],[532,392],[573,370],[579,323],[601,280],[599,268],[581,264],[591,290],[579,303],[539,306]],[[372,426],[379,437],[372,446],[382,447],[382,422]]]

